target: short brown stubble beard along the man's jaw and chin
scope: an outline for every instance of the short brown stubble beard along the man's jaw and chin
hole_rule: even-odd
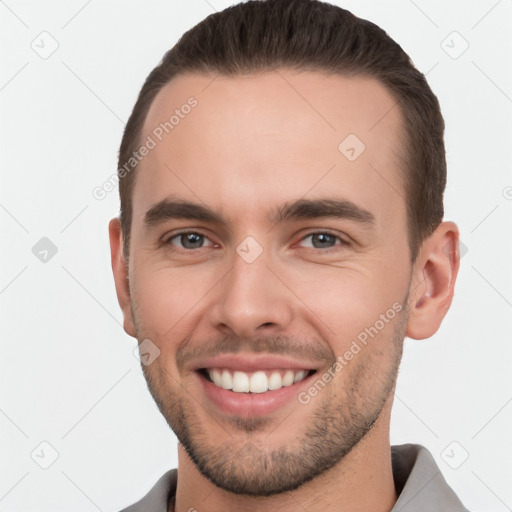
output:
[[[373,352],[365,363],[357,363],[352,369],[358,359],[356,355],[343,369],[351,375],[343,389],[335,393],[336,400],[329,401],[326,390],[319,393],[311,404],[322,400],[323,395],[321,405],[306,422],[302,421],[297,437],[288,446],[272,449],[268,448],[271,429],[265,433],[268,418],[233,418],[236,439],[245,434],[246,440],[237,446],[226,433],[226,441],[219,443],[218,438],[211,438],[208,423],[202,424],[194,411],[198,403],[169,372],[154,364],[141,367],[160,412],[205,478],[235,494],[271,496],[295,490],[333,468],[370,432],[394,390],[406,324],[404,309],[391,339],[370,341],[363,351]],[[136,322],[137,339],[141,340],[139,327]],[[372,343],[391,353],[384,354]],[[337,378],[330,383],[337,384]],[[293,413],[284,422],[296,427]]]

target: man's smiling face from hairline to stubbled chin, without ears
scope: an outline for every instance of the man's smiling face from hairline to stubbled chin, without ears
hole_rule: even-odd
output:
[[[213,78],[178,77],[148,113],[128,325],[160,350],[151,393],[203,475],[268,495],[389,414],[411,276],[403,133],[371,79]]]

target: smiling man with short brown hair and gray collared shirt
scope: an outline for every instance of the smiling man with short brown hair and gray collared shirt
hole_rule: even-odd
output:
[[[164,56],[109,229],[178,468],[126,511],[466,510],[389,441],[404,337],[437,331],[459,266],[443,131],[403,50],[327,3],[239,4]]]

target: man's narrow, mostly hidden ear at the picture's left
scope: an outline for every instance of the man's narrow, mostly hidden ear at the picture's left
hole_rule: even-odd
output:
[[[136,329],[130,303],[128,264],[123,254],[123,232],[119,218],[116,217],[109,222],[108,234],[110,237],[110,257],[116,283],[117,300],[124,316],[123,328],[127,334],[135,338]]]

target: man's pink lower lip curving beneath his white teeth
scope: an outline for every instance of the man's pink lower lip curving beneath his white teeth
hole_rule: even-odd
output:
[[[197,375],[208,398],[224,414],[256,418],[267,416],[293,400],[299,403],[297,396],[300,389],[307,385],[314,373],[291,386],[265,391],[265,393],[236,393],[219,388],[200,373],[197,373]]]

